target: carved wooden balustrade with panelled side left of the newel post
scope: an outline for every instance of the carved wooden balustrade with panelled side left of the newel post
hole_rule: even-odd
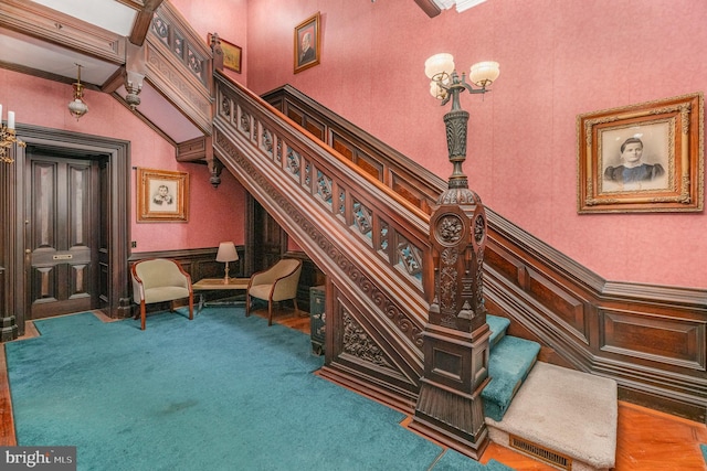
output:
[[[327,276],[324,374],[410,408],[433,282],[428,214],[215,78],[214,154]]]

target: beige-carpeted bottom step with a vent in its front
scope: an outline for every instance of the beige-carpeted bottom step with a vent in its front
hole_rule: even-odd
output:
[[[616,382],[537,362],[503,417],[487,417],[492,441],[559,469],[615,465]]]

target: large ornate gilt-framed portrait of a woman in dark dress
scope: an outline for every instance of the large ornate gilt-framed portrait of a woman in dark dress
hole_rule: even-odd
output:
[[[704,208],[704,97],[683,95],[577,117],[578,212]]]

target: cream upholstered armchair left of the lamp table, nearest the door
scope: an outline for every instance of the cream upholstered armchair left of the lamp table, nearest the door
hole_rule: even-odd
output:
[[[143,330],[145,330],[145,304],[170,301],[170,311],[173,312],[176,300],[189,298],[189,320],[194,318],[191,277],[177,261],[167,258],[149,258],[136,261],[130,271],[133,272],[133,301],[140,304]]]

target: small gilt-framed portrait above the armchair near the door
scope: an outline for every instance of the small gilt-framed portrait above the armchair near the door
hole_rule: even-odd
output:
[[[137,222],[189,221],[189,173],[137,169]]]

